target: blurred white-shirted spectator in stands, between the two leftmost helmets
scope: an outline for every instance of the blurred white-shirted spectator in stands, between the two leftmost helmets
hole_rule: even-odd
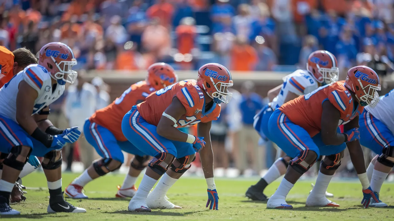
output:
[[[123,45],[127,41],[128,34],[126,28],[121,25],[119,15],[111,17],[111,25],[105,31],[105,37],[110,38],[115,45]]]

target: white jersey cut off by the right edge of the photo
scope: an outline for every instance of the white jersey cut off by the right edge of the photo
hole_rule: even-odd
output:
[[[374,108],[365,106],[365,110],[394,132],[394,89],[382,96]]]

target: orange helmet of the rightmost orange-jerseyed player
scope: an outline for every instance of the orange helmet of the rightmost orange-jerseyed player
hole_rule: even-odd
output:
[[[353,91],[361,106],[374,108],[379,102],[380,80],[376,72],[366,66],[352,67],[346,76],[345,86]]]

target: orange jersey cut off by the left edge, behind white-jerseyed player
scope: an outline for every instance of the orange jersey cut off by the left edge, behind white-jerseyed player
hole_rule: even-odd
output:
[[[14,54],[4,46],[0,46],[0,88],[14,76]]]

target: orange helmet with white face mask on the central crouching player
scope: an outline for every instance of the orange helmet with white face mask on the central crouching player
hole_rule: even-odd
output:
[[[208,63],[200,67],[197,84],[218,104],[227,104],[232,97],[232,93],[228,91],[233,85],[230,71],[218,63]]]

